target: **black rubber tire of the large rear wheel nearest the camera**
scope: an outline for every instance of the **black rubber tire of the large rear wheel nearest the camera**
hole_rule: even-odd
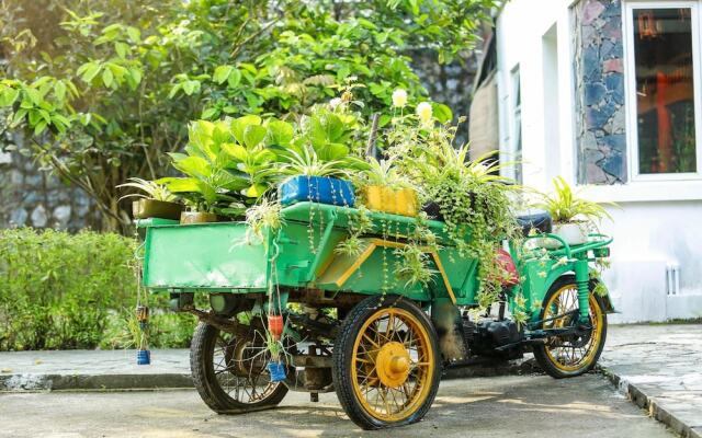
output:
[[[429,378],[430,390],[423,404],[409,417],[399,422],[383,422],[369,414],[359,402],[353,390],[351,378],[351,358],[353,356],[353,346],[359,331],[365,321],[382,308],[401,308],[415,315],[429,333],[429,342],[433,349],[433,357],[440,358],[439,343],[437,331],[431,320],[419,307],[414,302],[399,296],[374,296],[366,298],[356,304],[347,315],[341,324],[341,328],[336,338],[333,346],[333,364],[331,368],[333,385],[337,391],[339,403],[343,407],[349,418],[365,430],[383,429],[388,427],[405,426],[419,422],[431,407],[437,392],[439,391],[439,382],[441,380],[441,360],[437,360],[434,366],[434,374]]]

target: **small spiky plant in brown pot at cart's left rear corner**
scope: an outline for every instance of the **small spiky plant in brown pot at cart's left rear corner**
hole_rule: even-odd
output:
[[[180,219],[180,214],[184,206],[176,203],[176,195],[172,194],[163,184],[155,181],[131,177],[127,183],[120,184],[117,188],[136,188],[143,193],[131,193],[120,198],[139,198],[132,203],[132,214],[135,219],[162,218],[162,219]]]

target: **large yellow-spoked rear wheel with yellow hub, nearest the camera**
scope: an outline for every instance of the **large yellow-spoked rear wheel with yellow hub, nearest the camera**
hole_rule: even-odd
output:
[[[333,354],[339,401],[359,426],[415,423],[431,406],[441,367],[437,335],[412,302],[399,297],[361,302],[346,318]]]

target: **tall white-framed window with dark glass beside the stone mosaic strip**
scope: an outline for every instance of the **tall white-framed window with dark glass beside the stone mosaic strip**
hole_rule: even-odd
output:
[[[633,180],[701,175],[698,3],[627,3]]]

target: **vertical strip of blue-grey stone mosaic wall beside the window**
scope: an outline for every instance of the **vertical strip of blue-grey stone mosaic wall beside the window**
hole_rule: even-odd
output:
[[[581,0],[573,13],[578,183],[625,183],[622,4]]]

